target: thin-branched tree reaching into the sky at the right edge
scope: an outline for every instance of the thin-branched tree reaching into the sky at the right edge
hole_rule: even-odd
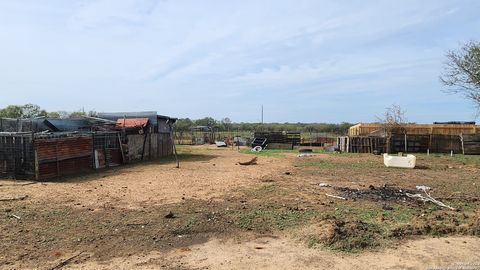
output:
[[[446,57],[440,76],[446,91],[462,94],[480,107],[480,42],[470,41]]]

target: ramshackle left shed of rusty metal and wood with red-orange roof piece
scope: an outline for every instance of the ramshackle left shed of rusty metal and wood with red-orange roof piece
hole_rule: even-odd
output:
[[[118,115],[147,117],[117,126]],[[0,119],[0,176],[41,180],[169,156],[175,121],[156,113],[116,113],[107,119]]]

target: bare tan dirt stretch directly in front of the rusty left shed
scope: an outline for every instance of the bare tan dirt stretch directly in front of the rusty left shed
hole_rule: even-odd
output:
[[[231,149],[196,146],[181,150],[180,169],[173,160],[162,160],[27,186],[0,181],[0,197],[28,195],[28,203],[40,205],[139,209],[186,198],[222,196],[290,166],[288,160],[275,158],[262,158],[255,166],[238,166],[250,156]]]

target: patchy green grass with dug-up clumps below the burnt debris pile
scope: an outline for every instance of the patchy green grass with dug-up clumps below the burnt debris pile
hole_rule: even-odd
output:
[[[479,232],[478,221],[471,212],[445,212],[434,207],[418,209],[399,204],[364,204],[357,207],[345,202],[336,206],[334,210],[323,213],[323,218],[333,220],[331,239],[310,235],[306,239],[307,246],[322,245],[332,250],[355,253],[388,246],[412,235],[477,235]]]

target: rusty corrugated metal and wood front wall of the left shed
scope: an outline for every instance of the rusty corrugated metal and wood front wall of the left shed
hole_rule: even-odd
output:
[[[49,179],[173,154],[170,133],[0,133],[0,176]],[[125,147],[125,148],[123,148]],[[128,150],[127,153],[122,153]]]

